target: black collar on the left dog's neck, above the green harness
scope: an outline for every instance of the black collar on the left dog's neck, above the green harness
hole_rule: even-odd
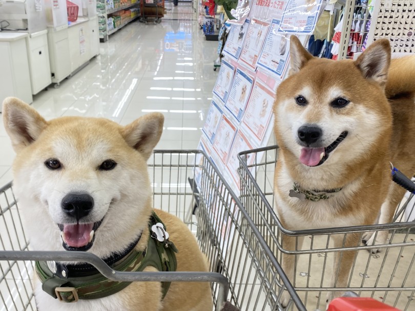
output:
[[[122,260],[124,257],[126,257],[128,254],[131,253],[131,251],[136,247],[138,241],[141,238],[141,233],[138,235],[136,240],[132,242],[122,253],[113,253],[109,257],[102,259],[105,261],[105,263],[112,267],[114,263]],[[59,262],[54,261],[48,261],[48,267],[49,269],[59,278],[66,279],[68,277],[76,277],[79,275],[82,276],[89,276],[96,274],[98,270],[89,263],[81,263],[81,264],[61,264]],[[55,272],[56,271],[56,272]]]

